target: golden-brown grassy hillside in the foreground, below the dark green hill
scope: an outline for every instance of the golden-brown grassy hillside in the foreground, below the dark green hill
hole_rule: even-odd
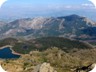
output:
[[[76,72],[77,68],[95,63],[95,56],[96,49],[77,49],[75,52],[66,53],[54,47],[42,52],[31,51],[29,54],[22,55],[19,59],[2,60],[0,63],[9,72],[37,72],[34,71],[36,66],[38,69],[38,65],[45,62],[50,63],[57,72]]]

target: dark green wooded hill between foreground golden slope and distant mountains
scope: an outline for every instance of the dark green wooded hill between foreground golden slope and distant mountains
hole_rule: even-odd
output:
[[[65,52],[70,52],[74,49],[91,49],[93,48],[90,44],[70,40],[62,37],[44,37],[31,39],[28,41],[19,41],[14,38],[7,38],[0,41],[0,47],[11,45],[12,49],[21,54],[27,54],[30,51],[44,51],[51,47],[58,47]]]

